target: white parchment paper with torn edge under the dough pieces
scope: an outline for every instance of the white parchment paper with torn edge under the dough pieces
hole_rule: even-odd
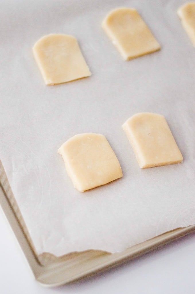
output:
[[[0,158],[38,254],[124,250],[195,223],[194,48],[176,10],[182,1],[1,1]],[[135,7],[159,52],[125,62],[101,29],[107,12]],[[45,86],[32,46],[74,35],[92,76]],[[165,116],[184,162],[141,170],[121,125]],[[57,149],[77,133],[102,133],[123,178],[79,193]]]

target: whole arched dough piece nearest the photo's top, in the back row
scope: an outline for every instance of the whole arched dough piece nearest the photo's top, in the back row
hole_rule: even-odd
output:
[[[160,49],[136,9],[114,9],[106,16],[102,27],[125,60]]]

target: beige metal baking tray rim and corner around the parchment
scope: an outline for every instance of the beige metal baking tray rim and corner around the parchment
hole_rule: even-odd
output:
[[[143,243],[132,246],[123,252],[107,253],[104,251],[87,250],[73,252],[62,257],[48,253],[37,255],[28,234],[4,167],[0,161],[0,204],[9,224],[16,235],[18,243],[30,265],[35,279],[46,286],[58,286],[79,278],[94,275],[111,267],[134,259],[150,250],[195,231],[195,225],[164,233]]]

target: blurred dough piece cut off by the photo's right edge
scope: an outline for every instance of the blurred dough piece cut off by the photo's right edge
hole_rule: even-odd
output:
[[[195,2],[182,5],[177,10],[177,14],[192,44],[195,46]]]

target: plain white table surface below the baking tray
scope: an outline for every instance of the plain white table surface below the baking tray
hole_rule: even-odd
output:
[[[195,293],[195,233],[106,273],[57,288],[44,288],[35,281],[2,210],[0,232],[1,294]]]

